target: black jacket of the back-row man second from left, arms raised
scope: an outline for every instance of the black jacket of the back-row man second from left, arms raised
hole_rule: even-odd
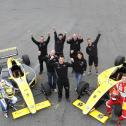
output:
[[[62,40],[59,40],[57,33],[54,32],[54,39],[55,39],[55,51],[56,53],[63,53],[64,42],[66,40],[66,35],[63,36]]]

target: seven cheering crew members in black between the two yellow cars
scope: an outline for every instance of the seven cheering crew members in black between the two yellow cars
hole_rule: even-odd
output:
[[[57,91],[58,88],[58,101],[62,99],[62,90],[65,89],[66,99],[69,100],[69,78],[68,78],[68,67],[72,67],[73,72],[75,73],[75,79],[77,81],[77,86],[86,73],[87,69],[87,60],[82,53],[81,44],[84,41],[83,37],[80,34],[73,34],[72,36],[66,35],[66,33],[57,34],[55,28],[54,31],[54,49],[48,53],[48,43],[50,42],[50,33],[45,40],[44,36],[40,37],[40,40],[36,40],[31,35],[31,40],[38,46],[38,60],[40,63],[40,72],[43,72],[43,62],[46,63],[47,75],[48,75],[48,84],[50,88]],[[87,39],[86,52],[88,54],[88,64],[89,72],[91,74],[92,65],[94,64],[96,69],[96,74],[98,75],[98,51],[97,44],[101,34],[99,33],[95,41],[92,41],[91,38]],[[71,62],[65,62],[64,59],[64,44],[65,42],[70,45],[69,56]]]

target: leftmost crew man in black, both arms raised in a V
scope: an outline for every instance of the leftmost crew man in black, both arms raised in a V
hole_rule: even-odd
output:
[[[48,38],[47,40],[44,40],[44,36],[40,37],[40,40],[37,41],[33,37],[33,34],[31,35],[32,41],[38,46],[38,59],[39,59],[39,64],[40,64],[40,72],[39,74],[42,74],[43,72],[43,61],[45,59],[45,56],[47,55],[47,46],[50,41],[50,33],[48,33]]]

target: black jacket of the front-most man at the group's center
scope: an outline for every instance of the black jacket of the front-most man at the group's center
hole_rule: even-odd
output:
[[[61,81],[67,80],[68,67],[72,67],[72,64],[68,62],[64,62],[63,64],[55,63],[54,66],[55,66],[58,79],[61,79]]]

